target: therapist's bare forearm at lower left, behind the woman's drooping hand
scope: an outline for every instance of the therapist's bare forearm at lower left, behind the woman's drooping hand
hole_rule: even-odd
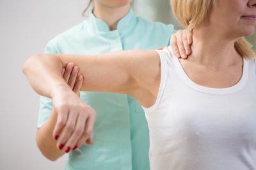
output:
[[[57,160],[65,154],[63,150],[59,150],[57,148],[57,141],[52,137],[57,116],[57,112],[53,110],[49,120],[47,120],[44,125],[38,129],[36,134],[36,143],[39,150],[46,158],[52,161]]]

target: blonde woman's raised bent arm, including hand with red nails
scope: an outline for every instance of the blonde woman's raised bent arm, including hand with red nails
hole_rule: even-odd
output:
[[[53,100],[58,113],[54,137],[58,136],[60,149],[74,148],[79,139],[86,141],[92,134],[95,118],[92,108],[84,104],[61,77],[61,68],[70,62],[84,75],[82,90],[128,93],[145,107],[156,100],[161,74],[157,52],[132,50],[97,56],[40,54],[31,57],[23,71],[37,93]]]

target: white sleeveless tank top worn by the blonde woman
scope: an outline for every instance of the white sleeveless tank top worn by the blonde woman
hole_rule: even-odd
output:
[[[255,59],[230,88],[206,88],[189,79],[167,48],[157,50],[161,83],[146,112],[152,170],[256,169]]]

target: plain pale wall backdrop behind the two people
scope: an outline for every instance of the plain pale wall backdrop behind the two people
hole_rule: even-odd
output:
[[[36,147],[39,97],[23,75],[22,64],[32,54],[44,52],[54,36],[81,22],[87,3],[88,0],[0,0],[1,170],[64,169],[65,157],[51,162]],[[166,23],[173,19],[168,0],[136,0],[134,12]]]

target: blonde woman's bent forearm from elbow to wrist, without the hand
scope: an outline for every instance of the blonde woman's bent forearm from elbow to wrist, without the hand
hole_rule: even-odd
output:
[[[42,55],[29,58],[24,63],[22,71],[36,93],[52,98],[55,89],[70,88],[61,76],[61,59],[58,56]]]

